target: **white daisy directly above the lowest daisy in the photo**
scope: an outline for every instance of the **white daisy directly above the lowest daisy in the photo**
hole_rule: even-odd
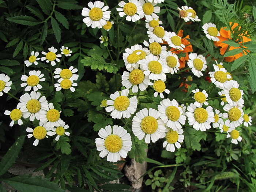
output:
[[[129,90],[124,89],[121,91],[121,95],[118,91],[110,95],[110,99],[112,100],[108,100],[107,105],[113,106],[108,106],[106,108],[106,111],[112,111],[110,114],[112,118],[129,118],[131,117],[131,114],[135,113],[137,109],[138,99],[136,96],[128,98],[128,94]]]

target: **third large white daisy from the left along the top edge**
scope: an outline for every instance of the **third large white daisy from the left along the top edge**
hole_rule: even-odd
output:
[[[154,7],[157,3],[149,2],[149,0],[140,0],[140,4],[142,5],[143,14],[140,15],[140,18],[146,17],[147,20],[152,20],[154,18],[158,18],[156,13],[160,12],[160,7]]]

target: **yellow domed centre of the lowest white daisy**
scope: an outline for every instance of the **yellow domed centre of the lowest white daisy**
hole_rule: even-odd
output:
[[[117,135],[109,135],[105,139],[105,147],[111,153],[116,153],[123,147],[122,139]]]

